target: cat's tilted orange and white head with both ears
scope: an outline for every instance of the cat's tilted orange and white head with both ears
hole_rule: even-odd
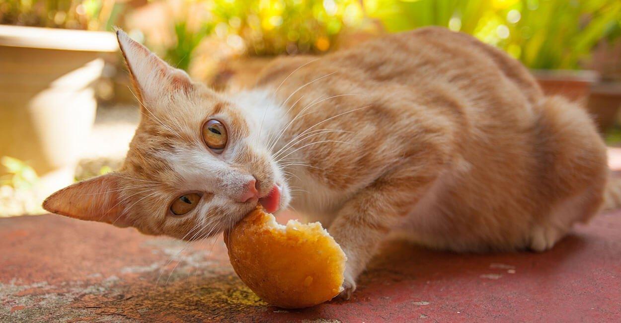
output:
[[[248,107],[117,37],[142,112],[124,166],[61,189],[43,207],[186,240],[232,227],[258,201],[270,212],[286,207],[287,183]]]

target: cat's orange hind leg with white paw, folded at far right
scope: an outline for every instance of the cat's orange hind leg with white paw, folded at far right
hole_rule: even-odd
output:
[[[535,219],[527,247],[552,248],[575,222],[586,222],[601,208],[609,176],[606,147],[587,112],[560,97],[537,106],[538,150],[542,163],[539,183],[548,188],[550,211]]]

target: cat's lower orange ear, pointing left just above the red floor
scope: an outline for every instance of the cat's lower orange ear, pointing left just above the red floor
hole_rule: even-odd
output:
[[[119,200],[119,177],[106,174],[61,189],[43,201],[43,209],[61,216],[129,227]]]

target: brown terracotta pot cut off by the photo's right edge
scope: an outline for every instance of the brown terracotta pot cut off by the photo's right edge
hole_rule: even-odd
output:
[[[599,130],[604,134],[614,124],[621,108],[621,82],[593,84],[588,109],[594,116]]]

